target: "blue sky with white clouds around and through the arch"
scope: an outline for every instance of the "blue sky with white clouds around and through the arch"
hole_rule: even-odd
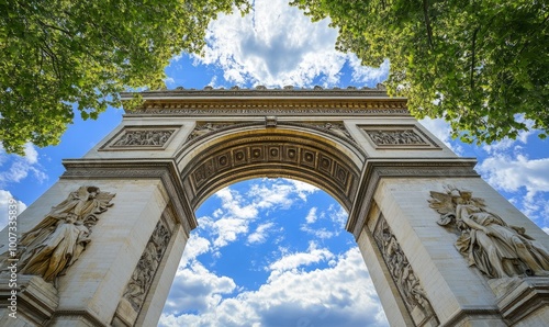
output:
[[[223,15],[210,25],[201,56],[181,54],[166,68],[169,89],[182,86],[280,88],[373,87],[389,63],[361,67],[337,53],[328,21],[311,23],[287,1],[255,1],[247,16]],[[63,173],[63,158],[79,158],[122,120],[109,109],[98,121],[75,121],[55,147],[27,145],[25,157],[0,150],[0,225],[12,196],[34,202]],[[449,139],[448,126],[422,121],[458,155],[477,157],[477,171],[549,233],[549,143],[536,131],[516,140],[470,146]],[[311,185],[257,179],[212,195],[197,212],[160,326],[386,326],[346,213]],[[334,322],[337,322],[335,324]]]

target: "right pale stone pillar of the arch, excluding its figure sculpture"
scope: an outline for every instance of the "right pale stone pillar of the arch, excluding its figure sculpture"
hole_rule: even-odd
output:
[[[391,325],[507,326],[520,322],[542,326],[547,322],[547,278],[486,275],[457,249],[463,234],[441,221],[451,214],[444,214],[440,199],[453,196],[456,208],[459,194],[448,191],[463,190],[485,204],[478,204],[484,212],[508,226],[524,227],[536,246],[549,249],[549,237],[475,176],[473,165],[467,159],[367,164],[357,196],[361,203],[351,213],[348,228],[357,238]]]

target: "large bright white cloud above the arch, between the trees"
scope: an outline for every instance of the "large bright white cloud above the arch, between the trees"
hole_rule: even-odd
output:
[[[376,84],[389,65],[360,67],[355,55],[335,50],[337,31],[329,20],[312,23],[287,0],[256,0],[250,14],[220,15],[209,26],[208,46],[195,61],[216,65],[228,82],[267,87],[337,83],[346,63],[355,81]]]

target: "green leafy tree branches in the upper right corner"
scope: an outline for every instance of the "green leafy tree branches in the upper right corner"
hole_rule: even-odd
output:
[[[549,131],[549,11],[537,0],[293,0],[332,19],[336,47],[362,64],[390,59],[390,94],[452,136],[492,143]],[[529,126],[525,120],[533,122]]]

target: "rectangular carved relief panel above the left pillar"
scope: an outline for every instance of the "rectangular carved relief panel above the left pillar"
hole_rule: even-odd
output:
[[[175,127],[125,127],[101,150],[164,149],[175,132]]]

